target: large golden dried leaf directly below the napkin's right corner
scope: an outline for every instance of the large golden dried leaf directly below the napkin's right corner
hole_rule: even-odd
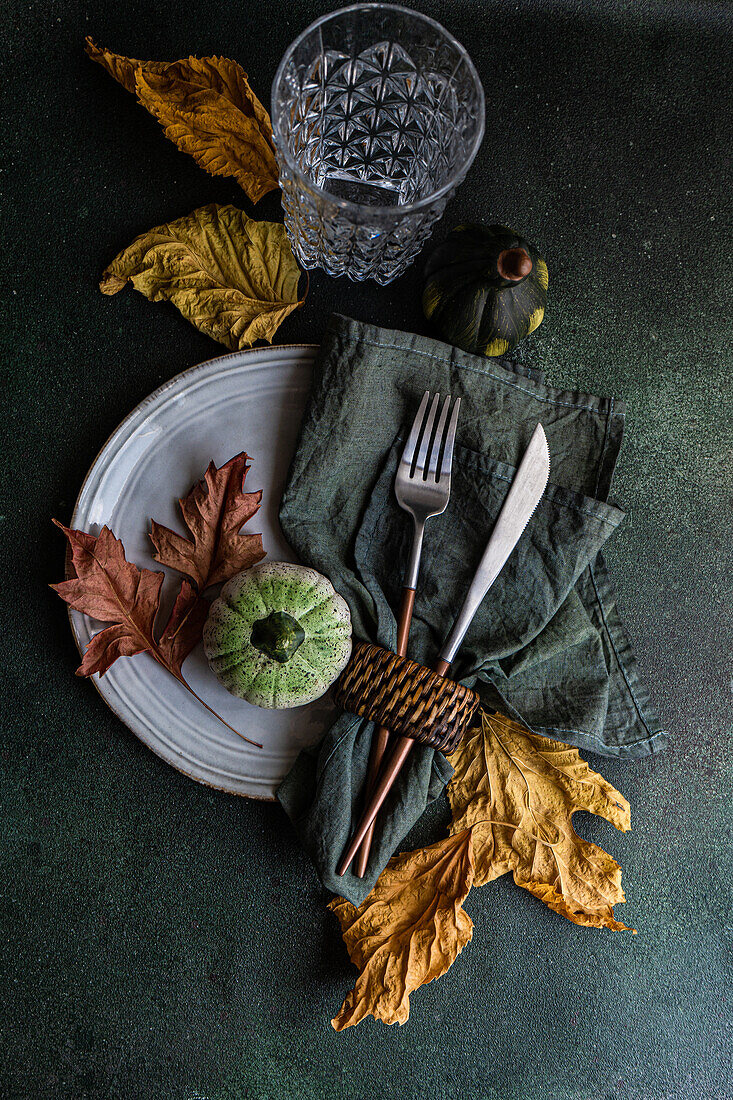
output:
[[[628,803],[578,750],[537,737],[502,715],[482,715],[450,756],[451,832],[473,834],[475,886],[507,871],[576,924],[621,930],[621,868],[572,828],[577,810],[631,828]]]

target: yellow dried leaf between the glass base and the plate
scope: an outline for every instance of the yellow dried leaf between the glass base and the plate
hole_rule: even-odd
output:
[[[284,226],[231,206],[205,206],[135,238],[105,271],[102,294],[127,283],[151,301],[172,301],[201,332],[232,351],[272,343],[303,305],[300,272]]]

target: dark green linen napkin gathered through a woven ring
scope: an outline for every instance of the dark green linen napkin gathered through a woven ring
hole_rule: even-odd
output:
[[[550,389],[506,360],[333,317],[281,504],[288,542],[346,597],[355,637],[394,648],[412,521],[393,482],[425,389],[460,397],[461,413],[450,503],[426,529],[409,656],[435,660],[540,420],[550,484],[452,675],[543,736],[614,757],[658,751],[665,734],[600,553],[623,519],[608,503],[623,432],[617,400]],[[277,792],[324,884],[354,904],[452,774],[441,754],[416,746],[378,820],[366,875],[337,877],[372,728],[341,715]]]

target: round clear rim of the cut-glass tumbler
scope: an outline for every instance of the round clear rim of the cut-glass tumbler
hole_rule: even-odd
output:
[[[319,187],[318,184],[316,184],[303,172],[300,166],[297,164],[295,157],[291,153],[289,148],[287,147],[286,141],[284,140],[282,129],[280,125],[280,117],[275,111],[275,95],[277,88],[280,87],[287,62],[289,61],[289,58],[293,56],[297,47],[300,45],[300,43],[308,34],[310,34],[317,28],[321,26],[324,23],[330,22],[330,20],[335,19],[337,15],[344,15],[348,12],[352,11],[401,12],[402,14],[411,15],[423,23],[427,23],[428,26],[431,26],[435,31],[437,31],[457,51],[461,61],[467,66],[471,75],[471,78],[473,80],[473,85],[478,91],[480,120],[479,120],[479,125],[477,128],[475,136],[473,139],[473,144],[471,145],[471,148],[466,160],[460,164],[458,168],[456,168],[451,173],[450,179],[446,184],[444,184],[441,187],[438,187],[436,190],[430,191],[429,195],[426,195],[425,198],[418,199],[416,202],[408,202],[405,206],[374,207],[370,206],[370,204],[368,202],[352,202],[350,199],[339,198],[337,195],[332,195],[331,191],[327,191],[324,187]],[[445,26],[438,23],[436,19],[431,19],[429,15],[424,15],[423,12],[415,11],[413,8],[405,8],[403,4],[395,4],[395,3],[353,3],[349,4],[346,8],[338,8],[335,11],[326,12],[325,15],[321,15],[319,19],[314,20],[313,23],[309,23],[308,26],[306,26],[305,30],[303,30],[300,34],[298,34],[297,37],[295,37],[291,42],[289,46],[283,54],[282,61],[277,66],[277,72],[275,73],[275,77],[272,81],[270,109],[272,112],[273,134],[275,134],[280,139],[280,141],[277,142],[277,152],[283,157],[291,172],[293,172],[296,176],[306,182],[308,190],[313,191],[320,198],[326,199],[328,202],[331,202],[335,206],[339,207],[339,209],[353,210],[362,216],[369,212],[369,216],[371,216],[372,218],[374,218],[375,216],[378,218],[383,218],[385,216],[387,218],[389,217],[398,218],[405,215],[415,213],[418,210],[423,210],[426,207],[433,206],[444,196],[448,195],[452,190],[452,188],[456,187],[461,176],[466,174],[473,164],[475,155],[481,146],[481,142],[483,141],[485,123],[486,123],[486,100],[483,90],[483,85],[481,84],[481,79],[479,77],[477,67],[469,57],[466,47],[462,46],[461,43],[458,41],[458,38],[453,37],[453,35],[450,34],[450,32],[447,31]]]

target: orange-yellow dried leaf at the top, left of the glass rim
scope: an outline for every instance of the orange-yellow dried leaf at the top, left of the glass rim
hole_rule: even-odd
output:
[[[212,176],[233,176],[253,202],[280,186],[270,116],[247,73],[227,57],[139,62],[96,46],[87,53]]]

